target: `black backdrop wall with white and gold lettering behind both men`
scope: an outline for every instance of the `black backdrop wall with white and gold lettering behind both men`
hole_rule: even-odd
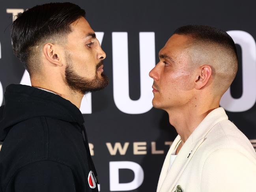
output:
[[[0,2],[0,104],[8,84],[30,84],[13,55],[13,15],[48,0]],[[55,2],[55,1],[52,1]],[[64,1],[63,1],[64,2]],[[110,84],[86,95],[84,114],[100,191],[153,192],[164,157],[177,133],[163,110],[152,108],[148,73],[172,32],[187,24],[222,28],[237,44],[239,70],[221,100],[231,121],[256,147],[256,2],[251,0],[71,0],[107,54]]]

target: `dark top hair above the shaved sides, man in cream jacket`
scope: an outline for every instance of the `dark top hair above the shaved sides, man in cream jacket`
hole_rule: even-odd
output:
[[[179,27],[174,34],[188,35],[192,39],[207,43],[217,43],[223,47],[230,48],[237,56],[235,43],[227,32],[207,25],[186,25]]]

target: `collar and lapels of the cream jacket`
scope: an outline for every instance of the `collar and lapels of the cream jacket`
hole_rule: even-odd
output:
[[[211,111],[198,125],[198,127],[196,127],[196,129],[192,132],[187,141],[181,147],[176,159],[168,171],[170,166],[170,155],[181,139],[179,135],[176,137],[164,160],[163,168],[159,177],[159,183],[157,185],[157,192],[173,190],[176,182],[185,170],[194,153],[204,142],[208,132],[214,127],[214,125],[226,119],[228,119],[228,116],[222,107]]]

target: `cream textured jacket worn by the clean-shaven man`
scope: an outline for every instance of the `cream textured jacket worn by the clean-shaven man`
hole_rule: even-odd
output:
[[[174,192],[177,185],[182,192],[256,192],[255,150],[223,108],[204,118],[168,171],[179,141],[178,135],[166,155],[157,192]]]

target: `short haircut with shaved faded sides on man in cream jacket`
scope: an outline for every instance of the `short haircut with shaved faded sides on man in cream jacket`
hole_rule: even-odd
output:
[[[211,65],[215,88],[223,94],[237,73],[237,50],[230,35],[206,25],[182,26],[174,34],[189,37],[192,62]]]

